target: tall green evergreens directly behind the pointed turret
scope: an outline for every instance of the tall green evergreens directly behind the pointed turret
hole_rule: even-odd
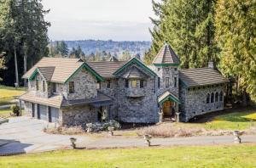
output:
[[[151,52],[145,57],[150,63],[156,53],[168,42],[181,59],[183,68],[203,67],[210,59],[217,61],[217,48],[214,42],[215,0],[162,0],[154,3],[152,19],[154,29]]]

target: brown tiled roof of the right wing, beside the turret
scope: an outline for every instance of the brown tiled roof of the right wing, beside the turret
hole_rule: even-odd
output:
[[[212,68],[180,70],[179,77],[186,87],[198,87],[228,82],[224,76]]]

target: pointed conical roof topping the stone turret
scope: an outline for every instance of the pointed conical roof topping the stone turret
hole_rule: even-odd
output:
[[[161,49],[160,52],[155,56],[152,64],[154,65],[175,65],[179,64],[179,59],[174,53],[173,49],[169,44],[165,44]]]

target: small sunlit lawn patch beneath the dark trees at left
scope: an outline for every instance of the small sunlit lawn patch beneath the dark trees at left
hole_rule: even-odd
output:
[[[15,89],[15,87],[6,87],[0,85],[0,105],[12,104],[11,101],[15,96],[20,96],[25,92],[24,87]]]

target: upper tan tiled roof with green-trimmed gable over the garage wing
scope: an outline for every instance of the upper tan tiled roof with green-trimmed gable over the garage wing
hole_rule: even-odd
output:
[[[55,68],[53,70],[53,68],[49,67]],[[86,70],[90,71],[90,73],[93,76],[96,76],[97,80],[103,81],[102,76],[98,75],[95,70],[90,68],[88,64],[81,61],[81,59],[47,57],[44,57],[43,59],[39,60],[38,63],[32,67],[32,69],[28,70],[26,74],[22,76],[22,78],[31,80],[38,73],[38,71],[41,72],[42,70],[41,74],[45,78],[49,78],[49,76],[51,76],[50,81],[65,83],[73,76],[73,74],[75,74],[82,68],[85,68]]]

